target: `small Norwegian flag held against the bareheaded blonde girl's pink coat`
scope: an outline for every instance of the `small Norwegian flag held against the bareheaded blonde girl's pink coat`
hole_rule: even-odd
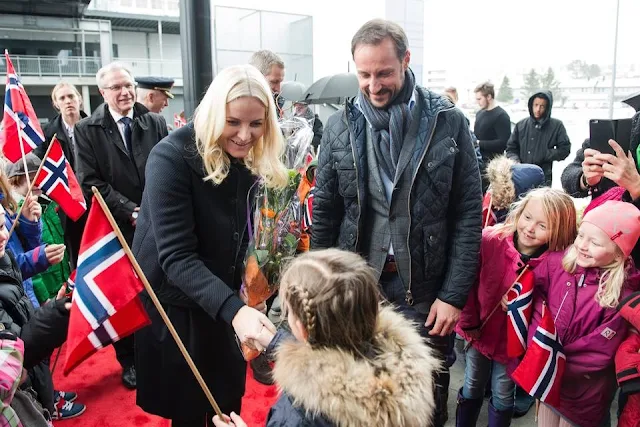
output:
[[[533,312],[533,272],[528,268],[507,293],[507,355],[520,357],[527,349]]]

